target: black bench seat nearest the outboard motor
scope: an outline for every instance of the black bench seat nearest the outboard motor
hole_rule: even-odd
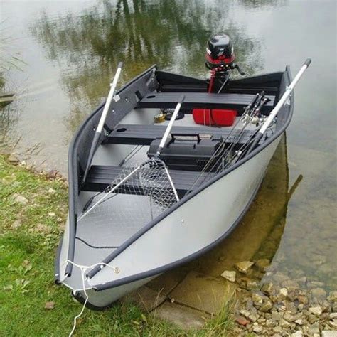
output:
[[[212,94],[206,92],[151,92],[146,97],[138,102],[138,107],[141,108],[174,108],[176,107],[179,97],[185,95],[183,100],[183,108],[192,109],[207,108],[207,109],[237,109],[242,111],[244,107],[250,104],[255,95],[224,93]],[[264,112],[270,112],[274,106],[275,96],[266,95],[270,99],[264,105]]]

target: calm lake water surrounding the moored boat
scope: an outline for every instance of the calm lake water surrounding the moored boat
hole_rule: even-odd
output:
[[[1,34],[11,40],[6,48],[25,62],[4,73],[6,90],[18,100],[0,111],[1,144],[17,143],[21,156],[63,173],[75,129],[107,95],[120,60],[121,82],[154,63],[203,77],[205,42],[217,31],[231,36],[237,63],[249,75],[287,64],[296,73],[311,57],[287,132],[287,188],[275,187],[284,163],[271,166],[236,232],[240,240],[264,232],[255,254],[273,258],[278,270],[294,276],[300,270],[336,288],[336,1],[2,1],[0,9]],[[286,200],[299,176],[290,200],[275,200]],[[274,212],[275,201],[286,205],[282,213]],[[260,228],[245,226],[253,218]],[[277,228],[277,239],[270,238]],[[212,254],[247,256],[242,242],[232,255],[228,245]]]

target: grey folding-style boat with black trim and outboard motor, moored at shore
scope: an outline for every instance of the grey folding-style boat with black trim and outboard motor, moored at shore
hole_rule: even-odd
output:
[[[210,79],[156,65],[115,92],[70,144],[69,213],[55,282],[104,309],[218,245],[240,223],[294,109],[284,71],[231,80],[230,38],[208,41]]]

